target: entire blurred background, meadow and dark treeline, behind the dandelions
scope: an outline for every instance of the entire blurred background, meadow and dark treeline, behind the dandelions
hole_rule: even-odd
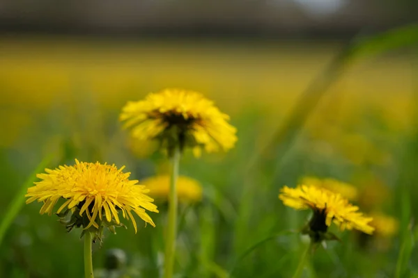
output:
[[[418,277],[414,1],[25,3],[0,5],[1,221],[15,212],[0,277],[82,277],[79,231],[24,205],[26,188],[42,160],[167,174],[164,154],[118,122],[127,101],[164,88],[202,92],[238,128],[230,152],[182,158],[202,196],[180,202],[177,277],[291,277],[306,238],[286,231],[309,212],[277,196],[303,177],[355,186],[353,202],[376,215],[373,236],[333,227],[341,242],[303,277]],[[157,227],[134,234],[125,221],[93,246],[97,277],[159,277],[157,204]]]

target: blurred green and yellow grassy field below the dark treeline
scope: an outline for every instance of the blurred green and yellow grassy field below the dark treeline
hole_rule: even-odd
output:
[[[303,227],[309,212],[286,208],[278,194],[304,176],[351,183],[362,211],[395,224],[383,221],[371,237],[333,227],[341,242],[319,248],[302,277],[418,277],[417,71],[410,55],[355,60],[285,144],[274,134],[341,44],[5,36],[0,49],[0,215],[48,155],[48,167],[77,158],[126,165],[139,180],[166,173],[164,155],[132,141],[118,114],[148,92],[187,88],[231,115],[238,144],[199,159],[187,152],[181,161],[180,173],[201,183],[203,198],[180,204],[178,277],[291,277],[307,238],[286,231]],[[98,274],[109,250],[120,248],[126,276],[103,277],[159,276],[167,204],[159,208],[157,227],[139,224],[134,234],[127,224],[93,247]],[[82,277],[79,231],[67,234],[39,209],[23,206],[6,232],[0,277]]]

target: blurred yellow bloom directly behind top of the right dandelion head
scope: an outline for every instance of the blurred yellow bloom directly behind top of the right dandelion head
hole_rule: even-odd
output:
[[[355,201],[358,197],[358,189],[351,184],[337,181],[336,179],[318,179],[317,177],[303,177],[300,180],[301,184],[307,186],[317,186],[320,188],[326,188],[332,192],[339,193],[341,196]]]

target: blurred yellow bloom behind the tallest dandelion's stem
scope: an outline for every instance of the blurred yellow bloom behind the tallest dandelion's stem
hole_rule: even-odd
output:
[[[141,181],[150,189],[150,196],[167,200],[170,191],[169,175],[150,177]],[[180,202],[199,202],[202,199],[202,186],[195,179],[180,176],[177,179],[177,196]]]

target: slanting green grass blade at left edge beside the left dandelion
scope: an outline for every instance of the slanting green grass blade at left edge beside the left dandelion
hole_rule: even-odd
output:
[[[29,175],[28,179],[22,184],[20,190],[16,193],[15,197],[13,198],[12,202],[10,202],[8,208],[6,209],[6,213],[3,215],[3,220],[0,224],[0,245],[3,241],[4,235],[6,231],[12,224],[13,220],[15,219],[17,213],[19,213],[20,209],[24,205],[24,195],[26,194],[27,188],[33,184],[33,181],[36,179],[36,174],[41,172],[49,162],[51,162],[52,156],[47,156],[44,158],[36,169]]]

